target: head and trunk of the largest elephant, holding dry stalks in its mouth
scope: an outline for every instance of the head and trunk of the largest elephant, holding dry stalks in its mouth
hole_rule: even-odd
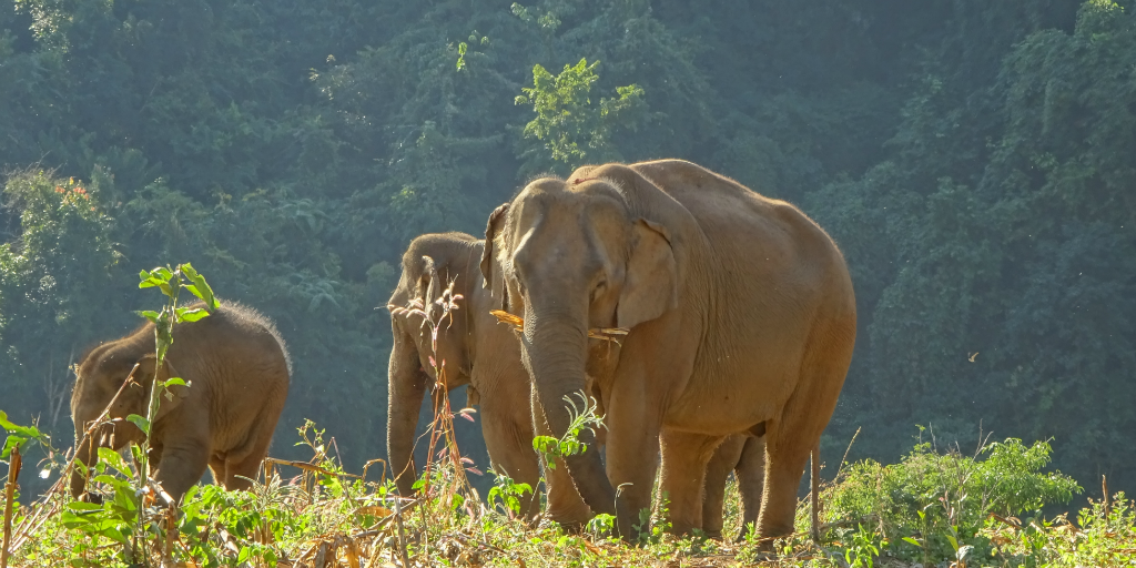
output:
[[[677,243],[653,218],[651,190],[659,193],[625,166],[582,169],[528,184],[488,219],[482,274],[524,318],[521,359],[557,436],[570,424],[563,398],[585,389],[588,329],[634,333],[678,306]],[[587,504],[615,512],[596,451],[566,461]]]

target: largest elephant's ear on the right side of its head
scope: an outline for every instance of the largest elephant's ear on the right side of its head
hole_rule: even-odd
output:
[[[635,248],[616,307],[616,325],[628,329],[678,307],[678,269],[667,228],[638,219],[634,231]]]

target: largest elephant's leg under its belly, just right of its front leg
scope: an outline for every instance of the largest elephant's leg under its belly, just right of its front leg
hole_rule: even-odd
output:
[[[721,436],[670,429],[662,432],[660,491],[670,501],[668,520],[673,533],[688,534],[695,528],[702,528],[702,490],[707,465],[721,442]]]

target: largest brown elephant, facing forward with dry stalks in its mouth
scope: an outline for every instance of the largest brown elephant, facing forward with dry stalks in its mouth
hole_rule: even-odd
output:
[[[797,484],[855,341],[847,267],[816,223],[694,164],[659,160],[534,181],[493,212],[485,243],[482,273],[524,318],[521,359],[554,434],[569,426],[563,396],[594,366],[588,329],[630,329],[596,379],[607,468],[594,449],[567,459],[593,510],[616,513],[635,538],[661,449],[674,531],[701,526],[708,460],[750,431],[766,436],[759,534],[793,531]]]

